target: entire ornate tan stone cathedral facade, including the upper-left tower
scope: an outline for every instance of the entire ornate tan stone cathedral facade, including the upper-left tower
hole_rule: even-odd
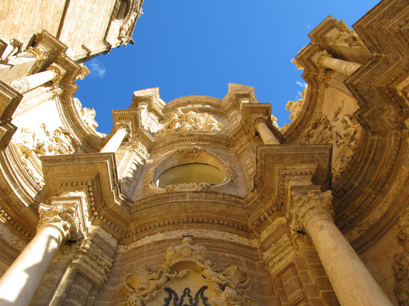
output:
[[[408,305],[409,3],[318,24],[281,128],[229,84],[104,135],[75,82],[142,2],[0,5],[0,304]]]

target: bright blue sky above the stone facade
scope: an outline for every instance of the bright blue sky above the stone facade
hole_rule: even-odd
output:
[[[109,133],[112,109],[126,109],[132,92],[159,87],[169,102],[187,95],[222,98],[228,83],[255,87],[271,103],[279,126],[289,122],[288,100],[305,82],[290,62],[328,15],[352,24],[378,1],[145,0],[134,45],[85,63],[75,96],[94,108],[98,132]]]

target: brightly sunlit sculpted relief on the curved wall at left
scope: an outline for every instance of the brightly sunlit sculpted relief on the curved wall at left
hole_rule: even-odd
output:
[[[22,127],[20,134],[12,141],[16,154],[22,166],[32,179],[40,186],[44,186],[40,156],[69,155],[77,153],[79,143],[72,137],[71,132],[59,126],[51,135],[46,125],[40,125],[41,136],[28,127]]]

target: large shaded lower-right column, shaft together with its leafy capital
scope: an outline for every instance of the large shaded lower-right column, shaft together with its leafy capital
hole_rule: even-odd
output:
[[[342,306],[392,306],[334,223],[331,191],[293,192],[291,228],[306,232]]]

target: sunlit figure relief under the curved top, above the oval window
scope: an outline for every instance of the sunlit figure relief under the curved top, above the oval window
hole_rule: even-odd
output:
[[[194,111],[184,113],[178,108],[176,113],[171,114],[171,118],[164,124],[162,129],[157,131],[156,136],[188,131],[207,131],[223,134],[224,126],[207,113],[197,114]]]

